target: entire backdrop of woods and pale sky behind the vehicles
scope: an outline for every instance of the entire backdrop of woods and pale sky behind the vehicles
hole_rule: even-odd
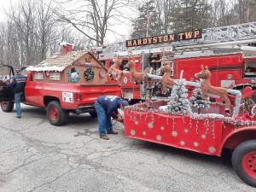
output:
[[[107,33],[117,33],[115,24],[124,20],[132,22],[127,26],[132,28],[131,38],[256,21],[256,2],[22,0],[6,15],[0,23],[0,64],[23,67],[58,52],[61,41],[75,44],[75,49],[102,46],[108,43]]]

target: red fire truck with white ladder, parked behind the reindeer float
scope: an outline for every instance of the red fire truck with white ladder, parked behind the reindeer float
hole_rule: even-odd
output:
[[[239,90],[245,86],[251,86],[255,90],[256,22],[208,28],[201,32],[200,38],[177,39],[178,41],[162,42],[163,44],[146,42],[145,45],[131,47],[132,41],[137,44],[143,42],[144,38],[126,41],[126,45],[129,42],[128,48],[125,43],[110,44],[99,55],[99,59],[106,67],[110,67],[114,56],[119,55],[123,57],[123,67],[125,67],[129,57],[132,56],[137,63],[138,72],[142,72],[146,67],[152,67],[154,74],[157,75],[160,75],[160,67],[163,63],[167,62],[172,65],[173,79],[179,79],[183,71],[183,78],[188,80],[198,80],[195,79],[194,74],[203,64],[212,71],[213,85],[232,86]],[[193,35],[193,32],[190,33]],[[183,36],[188,35],[184,32]],[[177,34],[177,37],[181,37],[180,34]],[[143,84],[132,83],[129,73],[123,75],[121,88],[122,95],[127,99],[141,100],[147,97]],[[153,90],[153,96],[162,95],[159,91]]]

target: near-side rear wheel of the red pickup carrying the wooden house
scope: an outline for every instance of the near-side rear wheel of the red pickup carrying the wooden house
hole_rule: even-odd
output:
[[[60,126],[66,123],[67,112],[61,108],[60,102],[49,102],[47,106],[47,117],[51,125]]]

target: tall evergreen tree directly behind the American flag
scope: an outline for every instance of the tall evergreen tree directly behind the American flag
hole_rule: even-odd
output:
[[[148,37],[160,35],[162,33],[162,22],[159,21],[157,11],[155,9],[154,0],[144,3],[142,7],[138,8],[140,15],[133,22],[133,32],[131,38],[143,38],[147,36],[148,23]]]

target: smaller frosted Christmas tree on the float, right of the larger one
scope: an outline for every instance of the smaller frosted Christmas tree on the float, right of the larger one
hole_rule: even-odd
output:
[[[190,97],[190,107],[197,108],[198,113],[201,113],[201,109],[209,109],[209,102],[202,98],[201,89],[196,88],[193,90],[192,96]]]

